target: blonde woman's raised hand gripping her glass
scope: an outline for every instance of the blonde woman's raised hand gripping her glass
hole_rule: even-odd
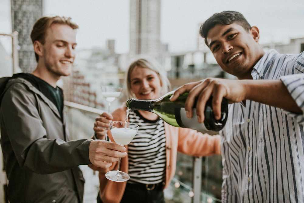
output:
[[[112,114],[106,112],[100,114],[99,117],[95,119],[93,129],[95,131],[96,138],[102,140],[105,139],[105,135],[107,134],[108,129],[110,128],[109,123],[112,121],[112,119]]]

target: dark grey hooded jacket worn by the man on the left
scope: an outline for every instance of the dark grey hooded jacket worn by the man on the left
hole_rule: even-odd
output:
[[[9,80],[0,106],[1,146],[10,202],[82,202],[78,165],[92,140],[69,141],[57,107],[29,81]],[[55,201],[54,201],[55,200]]]

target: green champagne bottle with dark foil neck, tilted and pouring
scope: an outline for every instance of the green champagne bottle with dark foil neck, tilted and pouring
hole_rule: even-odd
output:
[[[223,98],[221,107],[221,118],[216,120],[212,110],[212,97],[206,103],[205,120],[203,123],[197,121],[196,110],[193,108],[193,117],[188,118],[185,111],[185,101],[189,93],[183,93],[175,101],[170,101],[171,95],[174,91],[169,92],[156,100],[136,100],[129,99],[127,107],[132,110],[144,110],[157,114],[161,119],[170,125],[181,128],[192,128],[197,131],[219,131],[227,121],[228,104],[227,100]],[[194,103],[196,106],[196,101]]]

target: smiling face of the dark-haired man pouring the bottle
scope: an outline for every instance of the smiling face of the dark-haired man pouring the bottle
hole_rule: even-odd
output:
[[[216,24],[209,30],[206,41],[217,63],[238,79],[252,79],[251,71],[264,55],[258,44],[259,30],[253,26],[247,32],[237,23]]]

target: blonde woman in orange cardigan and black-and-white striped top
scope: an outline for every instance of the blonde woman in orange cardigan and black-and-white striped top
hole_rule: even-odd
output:
[[[131,63],[125,82],[128,96],[140,100],[157,99],[170,88],[161,66],[147,58]],[[105,139],[108,134],[114,142],[108,130],[109,122],[124,121],[125,117],[126,105],[112,114],[101,114],[94,126],[97,138]],[[130,180],[118,183],[105,177],[107,171],[117,169],[117,162],[108,170],[95,168],[100,180],[98,202],[164,202],[163,189],[174,176],[177,152],[189,156],[220,154],[219,135],[173,127],[147,111],[130,110],[129,122],[140,127],[132,142],[125,146],[128,156],[121,159],[120,170],[128,173]]]

